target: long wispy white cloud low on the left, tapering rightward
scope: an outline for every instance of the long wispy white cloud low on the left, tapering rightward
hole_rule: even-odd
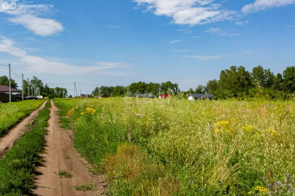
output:
[[[25,50],[13,45],[14,42],[12,40],[0,36],[0,52],[5,52],[11,56],[17,57],[19,63],[26,68],[25,71],[32,73],[58,73],[62,75],[70,75],[128,66],[125,63],[105,61],[92,62],[95,65],[91,66],[76,66],[60,61],[49,61],[39,56],[31,56],[28,55]]]

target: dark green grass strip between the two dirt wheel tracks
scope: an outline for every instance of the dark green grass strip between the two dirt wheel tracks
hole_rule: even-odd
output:
[[[44,150],[49,112],[49,109],[40,110],[32,129],[15,142],[0,160],[0,195],[31,193],[37,173],[35,167],[42,162],[38,154]]]

